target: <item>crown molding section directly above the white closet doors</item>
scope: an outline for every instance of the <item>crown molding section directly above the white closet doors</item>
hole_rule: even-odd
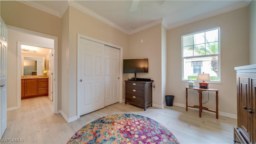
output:
[[[92,10],[90,10],[90,9],[88,9],[88,8],[86,8],[86,7],[84,7],[84,6],[82,6],[81,4],[78,4],[77,2],[68,1],[68,4],[69,4],[69,6],[72,6],[72,7],[76,8],[76,9],[78,9],[78,10],[80,10],[80,11],[82,11],[82,12],[84,12],[84,13],[90,15],[90,16],[92,16],[92,17],[94,17],[94,18],[96,18],[96,19],[98,19],[98,20],[100,20],[100,21],[102,21],[102,22],[104,22],[104,23],[106,23],[106,24],[108,24],[108,25],[110,25],[110,26],[112,26],[112,27],[114,27],[114,28],[120,30],[121,32],[124,32],[125,34],[128,34],[128,33],[129,33],[128,31],[126,31],[126,30],[123,29],[122,27],[118,26],[118,25],[115,24],[114,22],[111,22],[110,20],[108,20],[108,19],[106,19],[106,18],[100,16],[100,15],[97,14],[96,12],[94,12],[94,11],[92,11]]]

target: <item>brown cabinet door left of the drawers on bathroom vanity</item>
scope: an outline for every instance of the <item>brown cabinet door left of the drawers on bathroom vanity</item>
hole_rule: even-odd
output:
[[[37,93],[37,79],[25,79],[24,97],[36,96],[36,93]]]

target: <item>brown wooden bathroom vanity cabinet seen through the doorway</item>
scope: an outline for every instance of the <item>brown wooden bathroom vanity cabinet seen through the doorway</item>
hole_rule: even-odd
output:
[[[48,78],[22,78],[21,99],[48,96]]]

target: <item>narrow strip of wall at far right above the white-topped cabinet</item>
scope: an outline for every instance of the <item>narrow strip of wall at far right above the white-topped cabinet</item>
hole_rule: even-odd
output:
[[[256,64],[256,0],[249,5],[250,64]]]

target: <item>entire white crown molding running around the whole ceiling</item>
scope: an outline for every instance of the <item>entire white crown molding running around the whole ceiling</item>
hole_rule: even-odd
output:
[[[96,18],[96,19],[98,19],[98,20],[100,20],[100,21],[102,21],[102,22],[104,22],[105,24],[108,24],[109,26],[112,26],[113,28],[116,28],[117,30],[120,30],[121,32],[124,32],[125,34],[128,34],[128,35],[134,34],[134,33],[139,32],[139,31],[141,30],[141,29],[139,29],[139,28],[136,28],[136,29],[134,29],[134,30],[132,30],[132,31],[127,31],[127,30],[125,30],[124,28],[122,28],[122,27],[118,26],[117,24],[115,24],[114,22],[111,22],[110,20],[108,20],[108,19],[106,19],[106,18],[100,16],[100,15],[97,14],[96,12],[94,12],[94,11],[92,11],[92,10],[90,10],[90,9],[88,9],[88,8],[86,8],[86,7],[84,7],[84,6],[82,6],[81,4],[78,4],[78,3],[75,2],[75,1],[72,1],[72,0],[68,0],[68,1],[67,1],[68,4],[65,4],[65,6],[62,7],[61,13],[58,12],[57,10],[54,10],[54,9],[52,9],[52,8],[49,8],[49,7],[47,7],[47,6],[44,6],[44,5],[39,4],[39,3],[37,3],[37,2],[33,2],[33,1],[29,1],[29,0],[18,0],[18,1],[19,1],[19,2],[22,2],[23,4],[26,4],[26,5],[32,6],[32,7],[34,7],[34,8],[37,8],[37,9],[39,9],[39,10],[42,10],[42,11],[44,11],[44,12],[50,13],[50,14],[52,14],[52,15],[54,15],[54,16],[58,16],[58,17],[60,17],[60,18],[63,16],[63,14],[64,14],[64,12],[66,11],[66,9],[68,8],[68,6],[72,6],[72,7],[76,8],[76,9],[78,9],[78,10],[80,10],[80,11],[82,11],[82,12],[84,12],[84,13],[86,13],[86,14],[88,14],[88,15],[90,15],[90,16],[92,16],[92,17],[94,17],[94,18]],[[175,23],[175,24],[171,24],[171,25],[169,25],[169,26],[166,24],[166,22],[163,20],[163,18],[160,18],[160,19],[158,19],[158,20],[155,20],[155,21],[152,22],[152,23],[149,23],[149,24],[146,24],[146,25],[142,26],[142,30],[144,30],[144,29],[146,29],[146,28],[150,28],[150,27],[152,27],[152,26],[156,26],[157,24],[161,24],[161,23],[164,25],[165,28],[167,28],[167,29],[169,30],[169,29],[172,29],[172,28],[176,28],[176,27],[178,27],[178,26],[182,26],[182,25],[185,25],[185,24],[189,24],[189,23],[191,23],[191,22],[196,22],[196,21],[198,21],[198,20],[202,20],[202,19],[205,19],[205,18],[209,18],[209,17],[212,17],[212,16],[216,16],[216,15],[218,15],[218,14],[222,14],[222,13],[225,13],[225,12],[229,12],[229,11],[232,11],[232,10],[236,10],[236,9],[242,8],[242,7],[244,7],[244,6],[248,6],[248,4],[250,4],[250,2],[248,2],[248,1],[246,1],[246,2],[240,2],[240,3],[238,3],[238,4],[234,4],[234,5],[232,5],[232,6],[229,6],[229,7],[226,7],[226,8],[222,8],[222,9],[220,9],[220,10],[216,10],[216,11],[214,11],[214,12],[209,12],[209,13],[207,13],[207,14],[203,14],[203,15],[201,15],[201,16],[196,16],[196,17],[194,17],[194,18],[190,18],[190,19],[184,20],[184,21],[182,21],[182,22],[178,22],[178,23]]]

